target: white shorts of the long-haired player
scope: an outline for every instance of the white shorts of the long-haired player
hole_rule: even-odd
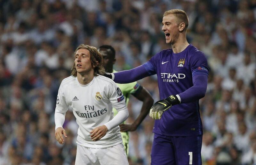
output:
[[[77,144],[75,165],[128,165],[123,143],[108,148],[88,148]]]

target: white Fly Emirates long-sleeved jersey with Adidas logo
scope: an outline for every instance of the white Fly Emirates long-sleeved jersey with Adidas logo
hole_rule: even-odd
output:
[[[72,107],[79,126],[77,144],[105,148],[122,143],[118,125],[124,122],[129,114],[124,96],[113,80],[97,75],[89,84],[82,85],[77,77],[65,78],[60,84],[56,102],[55,129],[62,127],[68,106]],[[118,111],[115,117],[112,106]],[[107,126],[107,134],[98,141],[92,141],[90,132],[102,125]]]

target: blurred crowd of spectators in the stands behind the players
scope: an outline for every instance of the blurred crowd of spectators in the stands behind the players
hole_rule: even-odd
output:
[[[70,109],[59,145],[54,110],[76,47],[112,45],[117,71],[137,67],[170,48],[170,9],[187,12],[188,42],[208,59],[203,164],[256,165],[256,0],[0,0],[0,165],[74,164],[76,120]],[[139,83],[159,99],[156,76]],[[131,96],[128,123],[141,105]],[[150,164],[153,124],[130,132],[131,165]]]

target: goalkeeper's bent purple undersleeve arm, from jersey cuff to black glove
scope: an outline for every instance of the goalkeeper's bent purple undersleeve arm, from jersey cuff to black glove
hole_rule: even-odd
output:
[[[195,75],[193,77],[194,85],[179,94],[181,103],[189,103],[203,98],[207,89],[207,81],[207,75]]]

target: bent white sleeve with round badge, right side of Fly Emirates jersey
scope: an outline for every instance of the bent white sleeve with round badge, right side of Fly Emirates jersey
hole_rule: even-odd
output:
[[[126,107],[124,95],[120,88],[117,87],[116,83],[113,82],[111,86],[108,87],[108,99],[118,112],[112,120],[104,124],[107,126],[108,130],[110,130],[123,123],[128,118],[129,112]]]

